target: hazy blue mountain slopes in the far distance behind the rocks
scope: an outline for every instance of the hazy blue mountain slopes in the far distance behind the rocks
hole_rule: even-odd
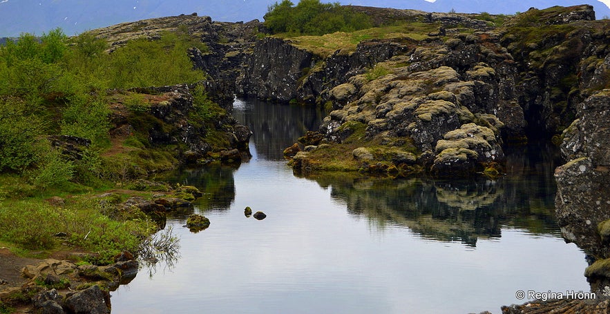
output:
[[[332,0],[322,0],[333,2]],[[298,0],[292,0],[298,3]],[[416,9],[428,12],[456,12],[491,14],[515,14],[530,7],[573,6],[589,3],[600,19],[610,16],[610,9],[595,0],[343,0],[354,6]],[[67,35],[86,30],[111,26],[127,21],[178,14],[208,15],[215,21],[263,20],[267,7],[275,0],[0,0],[0,37],[15,37],[21,32],[41,35],[54,28],[61,28]]]

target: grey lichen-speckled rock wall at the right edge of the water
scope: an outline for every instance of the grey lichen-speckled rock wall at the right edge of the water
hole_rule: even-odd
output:
[[[585,272],[591,290],[610,296],[610,90],[579,104],[577,118],[564,131],[569,161],[555,171],[557,224],[567,242],[595,260]]]

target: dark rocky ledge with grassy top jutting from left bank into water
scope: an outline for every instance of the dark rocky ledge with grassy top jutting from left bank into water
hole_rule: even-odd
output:
[[[126,93],[127,95],[122,95],[117,92],[111,96],[115,101],[111,104],[113,137],[125,138],[134,133],[144,134],[150,146],[180,147],[176,157],[183,163],[191,164],[218,159],[218,154],[222,151],[236,149],[247,152],[252,134],[249,128],[238,124],[236,119],[228,114],[219,115],[217,120],[212,122],[204,121],[204,117],[197,117],[198,108],[193,104],[191,87],[186,84],[132,88]],[[129,100],[129,97],[135,97],[137,104],[132,104],[130,101],[133,100]],[[209,144],[207,135],[210,132],[225,138],[226,146],[214,148]]]

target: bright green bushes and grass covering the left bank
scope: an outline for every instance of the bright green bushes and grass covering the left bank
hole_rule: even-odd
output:
[[[68,38],[60,29],[41,37],[23,34],[0,46],[0,241],[48,249],[57,245],[54,235],[62,232],[68,237],[61,242],[99,253],[96,263],[110,262],[118,251],[140,250],[154,226],[146,215],[108,217],[99,199],[90,195],[72,195],[65,206],[51,206],[41,196],[82,193],[108,181],[174,166],[174,148],[145,147],[148,134],[142,134],[140,142],[133,136],[137,130],[128,136],[137,148],[112,158],[101,154],[111,144],[112,101],[107,90],[202,80],[204,73],[193,69],[187,54],[191,47],[207,50],[179,30],[108,52],[104,40],[88,33]],[[133,106],[149,108],[140,94],[133,95]],[[195,115],[202,126],[224,114],[204,90],[195,97]],[[126,119],[131,116],[160,123],[137,110]],[[91,145],[68,157],[52,147],[50,135],[82,137]],[[126,157],[128,153],[133,156]]]

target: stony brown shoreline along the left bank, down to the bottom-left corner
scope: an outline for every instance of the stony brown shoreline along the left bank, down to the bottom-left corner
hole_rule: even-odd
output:
[[[131,196],[124,201],[121,201],[120,193],[109,192],[97,195],[95,199],[109,215],[148,217],[162,229],[167,213],[192,208],[191,202],[202,196],[194,186],[169,188],[162,182],[144,180],[139,185],[142,190],[157,192],[152,197]],[[137,192],[122,190],[121,194],[137,195]],[[61,198],[54,200],[59,202]],[[209,220],[207,222],[209,224]],[[166,247],[158,247],[164,245],[158,243],[151,245],[153,247],[147,248],[143,244],[137,257],[124,251],[113,257],[111,264],[97,264],[99,257],[95,253],[81,252],[66,253],[64,259],[27,259],[28,264],[14,270],[19,272],[22,280],[1,281],[1,304],[19,308],[23,313],[111,313],[110,292],[131,282],[142,263],[154,265],[158,262],[158,253],[155,252],[162,250],[167,253],[173,244],[167,243]]]

